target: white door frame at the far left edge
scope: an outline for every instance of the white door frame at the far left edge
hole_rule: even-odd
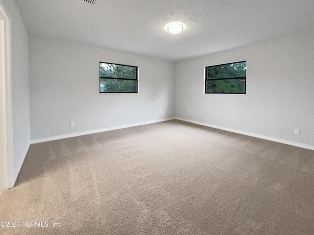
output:
[[[0,5],[0,191],[14,186],[10,19]]]

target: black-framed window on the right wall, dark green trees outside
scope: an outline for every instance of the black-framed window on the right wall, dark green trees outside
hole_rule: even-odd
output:
[[[245,94],[246,61],[205,67],[206,94]]]

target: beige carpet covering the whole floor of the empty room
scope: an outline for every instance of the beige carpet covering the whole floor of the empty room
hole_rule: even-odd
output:
[[[5,235],[314,235],[314,151],[178,120],[32,144],[0,221],[21,223]]]

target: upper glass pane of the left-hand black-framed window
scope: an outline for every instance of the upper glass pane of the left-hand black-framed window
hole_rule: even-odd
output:
[[[101,77],[136,79],[136,67],[127,65],[116,65],[100,63],[99,74]]]

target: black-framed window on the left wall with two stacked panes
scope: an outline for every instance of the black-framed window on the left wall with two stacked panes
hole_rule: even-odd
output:
[[[99,62],[100,93],[137,93],[137,67]]]

